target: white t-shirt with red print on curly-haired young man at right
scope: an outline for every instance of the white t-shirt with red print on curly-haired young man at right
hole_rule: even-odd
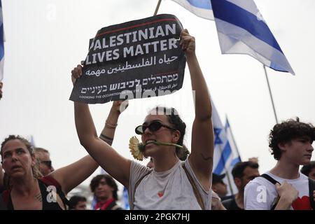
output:
[[[266,172],[266,174],[281,184],[283,181],[287,181],[299,192],[297,200],[290,207],[291,210],[311,210],[309,202],[309,179],[307,176],[299,173],[300,177],[298,179],[282,179],[270,172]],[[245,187],[244,207],[246,210],[270,210],[277,196],[276,186],[267,179],[259,176],[250,181]]]

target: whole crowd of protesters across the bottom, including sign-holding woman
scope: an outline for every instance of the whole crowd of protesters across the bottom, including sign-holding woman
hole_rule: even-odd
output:
[[[180,45],[186,53],[195,90],[195,119],[189,132],[192,139],[189,147],[183,146],[186,124],[176,109],[157,106],[136,128],[144,144],[141,153],[150,158],[147,166],[141,165],[124,158],[111,146],[127,102],[113,102],[100,135],[89,106],[74,102],[76,132],[89,155],[54,169],[48,150],[34,148],[19,135],[9,135],[0,152],[1,209],[86,209],[85,197],[75,195],[68,200],[66,195],[99,166],[107,174],[94,176],[90,183],[94,210],[123,209],[118,203],[116,181],[127,188],[130,209],[135,210],[314,209],[315,161],[311,161],[311,155],[315,127],[298,118],[274,125],[269,134],[276,166],[260,175],[257,160],[238,162],[232,169],[237,193],[227,197],[225,174],[213,174],[211,99],[195,54],[195,38],[187,29],[181,32]],[[73,83],[82,76],[82,69],[79,64],[71,71]],[[2,83],[0,99],[1,89]]]

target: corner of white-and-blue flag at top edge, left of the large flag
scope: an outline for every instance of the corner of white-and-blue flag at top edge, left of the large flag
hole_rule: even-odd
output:
[[[183,8],[186,8],[191,13],[207,19],[214,20],[214,13],[212,12],[210,0],[173,0],[179,3]]]

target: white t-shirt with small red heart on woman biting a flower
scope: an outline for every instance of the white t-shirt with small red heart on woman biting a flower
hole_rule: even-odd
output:
[[[130,167],[130,207],[134,204],[134,210],[200,210],[193,192],[193,186],[188,180],[185,170],[179,162],[166,172],[155,172],[137,162],[132,161]],[[188,159],[185,166],[192,176],[197,190],[202,196],[205,209],[211,210],[211,188],[204,190],[201,183],[193,173]],[[148,174],[150,172],[150,174]],[[148,175],[146,175],[148,174]],[[134,193],[134,186],[144,176]],[[132,195],[134,194],[134,201]]]

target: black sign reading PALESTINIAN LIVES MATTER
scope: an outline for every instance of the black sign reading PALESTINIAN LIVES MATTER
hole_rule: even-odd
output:
[[[168,14],[104,27],[90,41],[70,99],[103,104],[170,94],[183,85],[181,22]]]

